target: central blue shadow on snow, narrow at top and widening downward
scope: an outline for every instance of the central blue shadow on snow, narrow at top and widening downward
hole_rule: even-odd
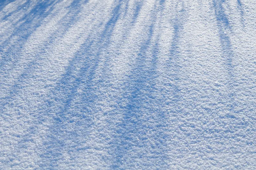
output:
[[[161,6],[160,9],[157,7],[159,4]],[[119,107],[116,109],[119,112],[120,110],[123,112],[123,120],[118,124],[116,136],[114,136],[111,142],[112,149],[114,150],[113,153],[111,151],[111,155],[115,155],[115,160],[110,166],[113,169],[127,168],[123,167],[123,165],[133,163],[127,162],[126,159],[128,151],[133,150],[133,146],[147,147],[148,142],[145,136],[147,136],[149,129],[144,127],[145,123],[147,123],[147,119],[157,117],[157,120],[161,121],[161,123],[158,124],[164,125],[164,112],[159,111],[159,109],[150,108],[150,106],[156,103],[161,107],[161,101],[156,101],[154,96],[157,90],[155,87],[155,79],[158,77],[156,69],[160,35],[157,35],[156,42],[152,42],[152,38],[154,34],[156,34],[154,32],[156,14],[157,11],[162,12],[162,5],[164,5],[164,1],[155,2],[154,11],[150,14],[150,18],[152,18],[151,24],[144,28],[148,30],[148,34],[146,37],[143,37],[143,42],[137,53],[134,67],[127,77],[128,80],[124,82],[126,92],[117,102]],[[150,48],[152,49],[152,53],[149,54],[151,57],[147,57]],[[148,59],[150,61],[148,61]],[[145,111],[148,113],[145,113]],[[147,114],[146,117],[145,114]],[[157,129],[154,125],[151,128]],[[161,143],[163,135],[159,135],[158,137],[157,140]],[[161,148],[161,146],[159,146],[159,148]],[[138,156],[139,158],[145,156],[142,153],[137,154],[140,155]]]

